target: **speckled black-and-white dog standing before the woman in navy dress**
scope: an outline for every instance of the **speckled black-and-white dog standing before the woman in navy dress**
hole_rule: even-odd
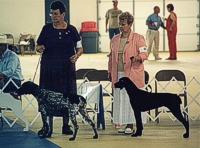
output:
[[[85,119],[90,126],[92,126],[92,129],[94,130],[93,139],[98,138],[95,124],[86,113],[86,100],[84,97],[75,94],[64,96],[58,92],[41,89],[37,84],[30,81],[23,83],[21,88],[19,88],[16,93],[18,95],[32,94],[37,99],[43,122],[42,130],[38,132],[38,136],[40,138],[51,137],[52,134],[52,127],[49,127],[47,116],[52,116],[55,112],[66,110],[68,110],[70,120],[74,126],[73,137],[69,140],[76,139],[78,132],[78,125],[76,121],[77,112],[82,115],[83,119]]]

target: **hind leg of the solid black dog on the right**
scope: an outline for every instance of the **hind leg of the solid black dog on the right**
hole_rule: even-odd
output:
[[[168,107],[171,113],[184,125],[186,133],[183,134],[183,138],[189,138],[189,122],[185,120],[181,113],[180,104],[172,105]]]

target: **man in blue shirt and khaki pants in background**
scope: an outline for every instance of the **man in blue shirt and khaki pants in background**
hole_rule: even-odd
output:
[[[162,22],[161,17],[158,15],[160,13],[160,8],[158,6],[154,7],[154,13],[148,16],[146,20],[146,25],[148,26],[148,30],[146,33],[146,40],[147,40],[147,51],[148,54],[150,54],[153,46],[153,55],[155,57],[155,60],[162,60],[162,58],[159,57],[159,36],[160,33],[158,29],[162,27],[165,29],[164,23]]]

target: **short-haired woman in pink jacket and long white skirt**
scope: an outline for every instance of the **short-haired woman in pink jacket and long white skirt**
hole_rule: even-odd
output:
[[[143,62],[148,56],[146,42],[142,35],[131,30],[133,22],[134,18],[129,12],[122,13],[119,16],[121,34],[114,36],[111,41],[108,75],[113,88],[114,83],[124,76],[129,77],[138,88],[143,88],[145,85]],[[146,113],[143,113],[143,123],[146,122],[145,115]],[[126,124],[125,129],[120,129],[118,132],[125,134],[133,132],[135,117],[125,89],[114,88],[113,122],[116,128]]]

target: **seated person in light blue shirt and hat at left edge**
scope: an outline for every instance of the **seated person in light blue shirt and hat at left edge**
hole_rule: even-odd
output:
[[[8,49],[6,35],[0,34],[0,89],[6,85],[10,78],[18,87],[21,86],[21,81],[24,79],[17,54]],[[10,82],[3,89],[3,92],[13,92],[16,89],[17,87]]]

